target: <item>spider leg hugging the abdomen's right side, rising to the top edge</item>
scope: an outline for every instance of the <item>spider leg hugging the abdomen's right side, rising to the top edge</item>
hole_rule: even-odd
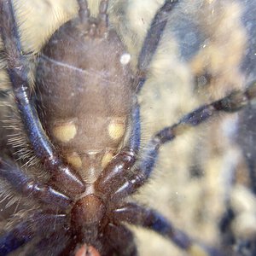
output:
[[[102,1],[104,3],[105,1]],[[145,74],[148,66],[157,48],[162,32],[166,27],[168,14],[173,9],[177,1],[167,0],[166,3],[159,9],[154,16],[147,36],[141,49],[138,60],[138,77],[137,77],[137,91],[141,89],[145,81]],[[113,193],[113,189],[119,188],[126,178],[127,172],[130,172],[131,167],[137,160],[137,152],[140,145],[140,125],[139,125],[139,106],[133,110],[133,131],[127,147],[118,154],[108,167],[102,172],[96,182],[96,189],[102,192],[106,198]],[[125,176],[124,176],[125,175]]]

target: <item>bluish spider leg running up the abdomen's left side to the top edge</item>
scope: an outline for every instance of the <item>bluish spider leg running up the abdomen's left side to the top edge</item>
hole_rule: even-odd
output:
[[[32,144],[34,153],[42,160],[45,168],[51,172],[53,181],[59,184],[58,187],[65,188],[71,194],[82,193],[84,192],[82,178],[71,170],[55,152],[55,148],[49,142],[49,138],[44,132],[37,110],[32,102],[32,88],[29,84],[29,63],[22,53],[11,1],[1,0],[0,11],[0,32],[7,56],[7,71],[13,84],[20,117],[23,120],[26,135]]]

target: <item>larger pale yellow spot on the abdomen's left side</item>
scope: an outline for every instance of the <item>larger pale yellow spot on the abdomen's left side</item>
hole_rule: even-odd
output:
[[[53,128],[53,134],[61,143],[68,143],[77,134],[77,128],[73,123],[55,125]]]

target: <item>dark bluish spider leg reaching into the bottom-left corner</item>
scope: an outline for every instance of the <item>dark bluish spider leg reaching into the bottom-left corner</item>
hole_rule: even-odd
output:
[[[55,228],[52,228],[52,225]],[[40,212],[35,213],[27,220],[17,224],[13,230],[6,232],[0,236],[0,255],[7,255],[15,251],[18,247],[23,246],[36,236],[49,236],[55,230],[63,228],[67,223],[65,214],[55,214]]]

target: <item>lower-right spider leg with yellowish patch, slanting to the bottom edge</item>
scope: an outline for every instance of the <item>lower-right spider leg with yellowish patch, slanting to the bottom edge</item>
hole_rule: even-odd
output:
[[[217,250],[203,247],[193,241],[181,230],[177,230],[169,220],[152,209],[138,206],[135,203],[126,203],[124,206],[113,211],[113,218],[117,221],[124,221],[144,228],[154,230],[161,236],[171,239],[177,247],[185,250],[189,255],[220,256]]]

